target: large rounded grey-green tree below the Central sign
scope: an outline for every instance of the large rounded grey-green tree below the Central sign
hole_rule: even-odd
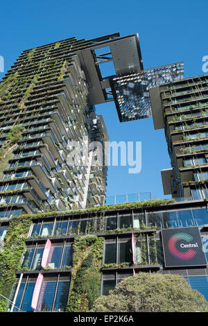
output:
[[[138,273],[126,277],[109,295],[101,295],[92,312],[208,311],[207,300],[184,277]]]

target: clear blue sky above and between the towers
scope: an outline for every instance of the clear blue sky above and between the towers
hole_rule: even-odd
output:
[[[208,55],[207,0],[70,1],[20,0],[1,3],[0,55],[5,71],[22,51],[75,36],[91,39],[119,32],[139,33],[144,69],[184,61],[184,76],[202,72]],[[3,73],[0,73],[0,79]],[[153,119],[119,123],[114,103],[96,105],[103,114],[110,141],[141,141],[141,173],[128,166],[108,170],[107,196],[150,191],[163,195],[160,171],[170,167],[164,130],[154,130]]]

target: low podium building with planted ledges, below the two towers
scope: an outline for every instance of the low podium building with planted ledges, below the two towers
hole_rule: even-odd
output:
[[[10,297],[12,301],[15,298],[13,311],[34,310],[31,304],[40,274],[43,280],[36,311],[83,311],[83,306],[90,309],[90,294],[94,293],[95,298],[100,294],[107,295],[124,277],[141,271],[182,275],[208,300],[207,259],[204,257],[196,264],[180,259],[180,266],[167,267],[166,244],[162,239],[162,232],[167,230],[181,234],[197,229],[201,238],[198,247],[202,255],[208,257],[207,200],[152,200],[105,206],[105,209],[76,210],[71,214],[25,215],[22,223],[26,220],[29,221],[28,233],[19,256],[19,268],[15,271],[17,284],[13,286]],[[12,235],[9,223],[12,222],[5,220],[1,223],[1,237],[5,239]],[[48,241],[51,242],[50,248],[42,267]],[[82,246],[80,253],[79,241]],[[93,258],[92,243],[97,243],[96,246],[100,243],[100,250]],[[191,243],[196,243],[196,240]],[[187,248],[180,250],[187,253]],[[98,268],[95,268],[95,261]],[[79,277],[82,277],[80,282]],[[87,286],[90,280],[93,288]],[[8,309],[11,307],[12,304]]]

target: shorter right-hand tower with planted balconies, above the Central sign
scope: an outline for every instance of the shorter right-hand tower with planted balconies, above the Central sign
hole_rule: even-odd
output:
[[[164,194],[208,196],[207,81],[196,76],[150,89],[155,129],[164,128],[173,168],[162,171]]]

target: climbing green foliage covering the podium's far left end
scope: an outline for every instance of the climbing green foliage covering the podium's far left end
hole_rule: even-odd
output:
[[[28,235],[31,221],[10,221],[3,250],[0,252],[0,293],[6,298],[10,297],[12,285],[16,282],[15,272],[19,269],[21,255],[25,248],[25,239]],[[6,310],[6,303],[0,299],[0,311]]]

